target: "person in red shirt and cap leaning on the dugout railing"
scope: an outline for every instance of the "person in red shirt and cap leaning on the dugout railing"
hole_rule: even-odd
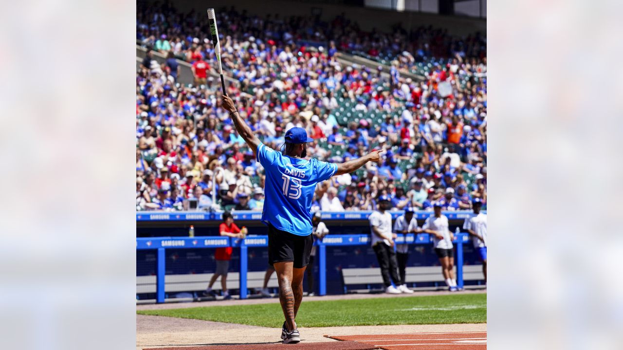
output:
[[[219,233],[222,236],[244,238],[246,229],[240,230],[236,224],[234,224],[234,217],[231,212],[223,213],[223,222],[219,225]],[[216,248],[214,253],[214,259],[216,260],[216,271],[210,279],[210,284],[207,285],[206,291],[203,295],[216,296],[216,293],[212,291],[212,285],[216,282],[216,279],[221,276],[221,288],[223,291],[224,300],[231,299],[229,291],[227,291],[227,270],[229,270],[229,260],[232,259],[232,247]]]

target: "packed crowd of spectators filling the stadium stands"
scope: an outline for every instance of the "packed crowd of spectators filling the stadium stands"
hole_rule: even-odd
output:
[[[373,210],[383,194],[395,209],[432,210],[435,201],[470,209],[473,198],[486,209],[482,38],[428,28],[407,44],[399,28],[362,35],[344,16],[326,23],[217,12],[224,73],[238,82],[227,94],[262,142],[279,149],[285,131],[300,126],[315,140],[308,156],[323,161],[388,151],[378,164],[319,184],[312,211]],[[158,64],[148,54],[136,75],[137,210],[262,210],[262,166],[220,108],[220,82],[210,74],[207,16],[164,4],[139,6],[137,18],[138,42],[167,57]],[[344,64],[338,51],[389,57],[391,74]],[[193,85],[177,82],[176,59],[193,65]],[[416,64],[421,80],[401,74]]]

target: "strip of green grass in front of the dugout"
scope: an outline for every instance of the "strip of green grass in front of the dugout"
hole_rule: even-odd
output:
[[[283,323],[283,312],[278,303],[137,312],[141,315],[194,318],[265,327],[280,327]],[[297,324],[303,327],[486,323],[487,294],[331,301],[305,301],[303,298],[298,313]]]

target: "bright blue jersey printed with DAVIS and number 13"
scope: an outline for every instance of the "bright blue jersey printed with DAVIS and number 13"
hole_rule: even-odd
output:
[[[257,161],[264,166],[264,211],[262,222],[299,236],[312,234],[312,198],[316,184],[338,171],[336,164],[283,156],[263,143]]]

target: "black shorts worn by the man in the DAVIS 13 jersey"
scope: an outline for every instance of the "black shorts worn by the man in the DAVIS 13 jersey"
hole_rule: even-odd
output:
[[[313,237],[305,237],[277,230],[269,224],[269,265],[276,262],[294,262],[294,268],[306,267],[310,262]]]

